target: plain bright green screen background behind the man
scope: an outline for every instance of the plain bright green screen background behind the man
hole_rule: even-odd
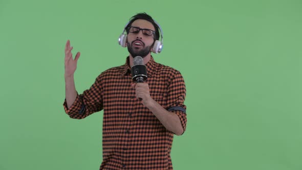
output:
[[[128,55],[117,39],[147,12],[157,62],[187,87],[174,169],[302,169],[302,1],[0,0],[0,169],[98,169],[102,111],[64,113],[64,45],[79,93]]]

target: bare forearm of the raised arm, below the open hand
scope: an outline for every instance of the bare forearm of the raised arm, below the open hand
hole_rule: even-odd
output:
[[[73,75],[65,76],[65,96],[67,107],[70,108],[77,97]]]

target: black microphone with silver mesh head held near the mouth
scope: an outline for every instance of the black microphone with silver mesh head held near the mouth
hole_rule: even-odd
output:
[[[131,75],[132,80],[135,82],[144,82],[147,79],[147,68],[141,56],[134,57]]]

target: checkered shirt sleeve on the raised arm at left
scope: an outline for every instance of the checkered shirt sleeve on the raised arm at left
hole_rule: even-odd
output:
[[[92,84],[90,89],[85,90],[82,94],[77,94],[74,103],[70,108],[67,107],[66,99],[63,107],[65,113],[74,119],[83,119],[95,112],[103,110],[102,88],[99,77]]]

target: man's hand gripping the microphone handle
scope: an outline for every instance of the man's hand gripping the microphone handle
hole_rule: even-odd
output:
[[[148,83],[132,83],[131,86],[135,89],[136,98],[140,99],[145,107],[148,107],[153,100],[150,96]]]

